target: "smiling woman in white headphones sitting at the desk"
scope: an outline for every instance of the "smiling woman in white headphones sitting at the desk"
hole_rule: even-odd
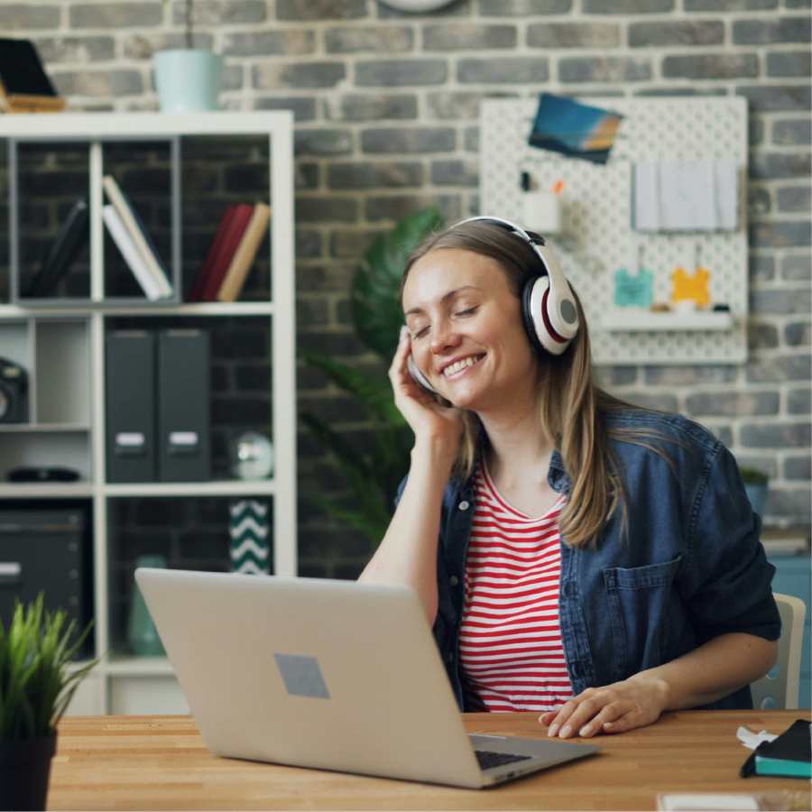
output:
[[[414,448],[361,579],[415,588],[460,706],[541,711],[561,738],[752,706],[780,619],[730,452],[592,382],[537,235],[497,218],[431,235],[401,303],[390,379]]]

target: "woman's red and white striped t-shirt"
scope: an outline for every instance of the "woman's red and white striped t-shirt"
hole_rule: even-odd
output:
[[[466,706],[553,710],[573,695],[558,623],[565,498],[534,519],[504,501],[484,465],[475,481],[459,643]]]

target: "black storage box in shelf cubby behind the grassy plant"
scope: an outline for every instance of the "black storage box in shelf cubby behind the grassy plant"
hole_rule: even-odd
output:
[[[82,508],[0,511],[0,619],[6,628],[15,600],[42,592],[45,608],[64,609],[78,632],[93,616],[88,514]],[[78,656],[92,651],[92,632]]]

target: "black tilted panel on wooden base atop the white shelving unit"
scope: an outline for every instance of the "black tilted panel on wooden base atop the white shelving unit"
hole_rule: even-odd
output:
[[[31,40],[0,38],[0,109],[57,113],[65,107]]]

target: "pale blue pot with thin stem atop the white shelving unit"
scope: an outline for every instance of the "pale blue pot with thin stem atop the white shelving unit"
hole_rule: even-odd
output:
[[[163,113],[217,110],[223,59],[195,48],[194,0],[184,4],[186,47],[157,51],[152,56],[155,88]]]

